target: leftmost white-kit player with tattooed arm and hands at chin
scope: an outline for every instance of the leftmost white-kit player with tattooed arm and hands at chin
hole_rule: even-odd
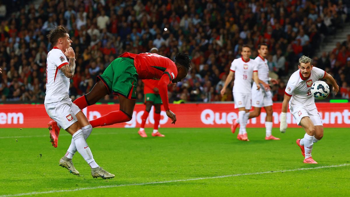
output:
[[[59,165],[71,173],[79,175],[72,163],[73,155],[78,151],[90,165],[93,178],[113,178],[113,174],[99,167],[93,159],[89,145],[86,143],[86,138],[89,137],[92,127],[68,95],[70,79],[72,79],[75,70],[75,53],[70,47],[72,41],[69,34],[63,26],[58,26],[52,29],[47,37],[54,46],[47,55],[47,82],[44,101],[47,114],[54,120],[48,124],[50,140],[52,145],[57,147],[59,129],[52,129],[52,127],[57,128],[58,125],[72,135],[68,151],[59,160]],[[69,61],[67,61],[67,57]]]

